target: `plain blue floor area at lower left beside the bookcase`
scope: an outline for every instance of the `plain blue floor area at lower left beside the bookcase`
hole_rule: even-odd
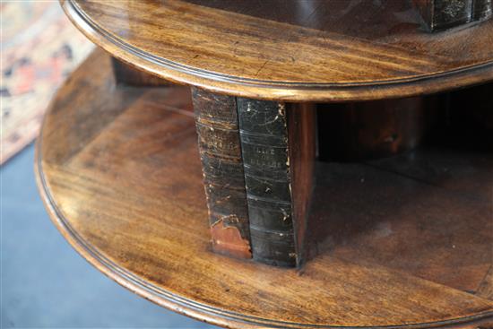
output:
[[[34,147],[1,169],[1,328],[215,328],[141,299],[99,273],[51,224]]]

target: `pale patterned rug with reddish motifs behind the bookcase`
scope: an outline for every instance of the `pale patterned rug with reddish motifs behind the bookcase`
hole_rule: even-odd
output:
[[[0,3],[0,164],[31,143],[49,100],[94,47],[65,17],[58,1]]]

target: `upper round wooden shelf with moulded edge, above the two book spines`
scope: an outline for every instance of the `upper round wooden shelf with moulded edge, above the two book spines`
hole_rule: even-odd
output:
[[[426,33],[407,0],[62,4],[112,56],[230,95],[377,100],[493,80],[493,20]]]

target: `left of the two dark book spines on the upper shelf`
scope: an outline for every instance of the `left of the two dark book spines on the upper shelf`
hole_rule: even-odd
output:
[[[471,22],[473,0],[412,0],[429,31]]]

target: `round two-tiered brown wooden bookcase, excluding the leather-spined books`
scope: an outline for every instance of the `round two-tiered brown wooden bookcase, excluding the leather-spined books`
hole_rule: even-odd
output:
[[[103,50],[39,136],[57,229],[214,325],[492,327],[493,21],[430,33],[410,2],[376,3],[62,0]],[[316,112],[297,268],[213,252],[190,87]]]

